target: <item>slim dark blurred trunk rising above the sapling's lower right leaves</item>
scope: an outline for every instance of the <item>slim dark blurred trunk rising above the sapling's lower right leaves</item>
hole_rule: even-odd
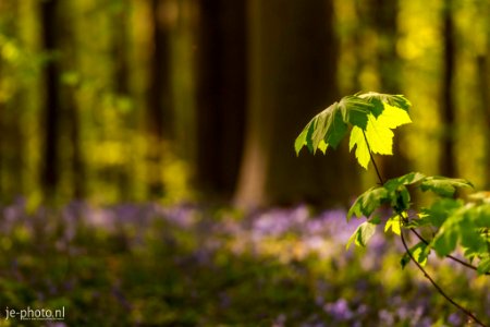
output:
[[[453,81],[455,68],[455,38],[454,38],[454,22],[452,0],[445,0],[442,13],[443,23],[443,75],[441,89],[441,123],[442,123],[442,146],[439,161],[440,173],[446,177],[455,177],[456,161],[454,154],[454,133],[456,133],[455,125],[455,110],[453,99]]]

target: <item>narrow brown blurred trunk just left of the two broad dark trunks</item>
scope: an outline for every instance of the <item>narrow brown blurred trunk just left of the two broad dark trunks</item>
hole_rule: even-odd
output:
[[[149,68],[148,112],[146,124],[147,182],[150,197],[164,193],[162,183],[162,152],[166,141],[173,137],[172,81],[171,81],[171,20],[169,5],[173,0],[150,0],[152,49]],[[168,145],[168,144],[167,144]]]

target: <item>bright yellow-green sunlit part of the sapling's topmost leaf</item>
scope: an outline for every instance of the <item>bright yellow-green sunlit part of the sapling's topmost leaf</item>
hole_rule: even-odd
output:
[[[370,114],[366,130],[354,126],[348,143],[350,150],[356,147],[356,158],[360,166],[367,169],[370,160],[369,149],[372,154],[393,155],[393,132],[400,125],[411,123],[408,113],[387,102],[384,110],[376,118]],[[369,143],[366,143],[366,138]]]

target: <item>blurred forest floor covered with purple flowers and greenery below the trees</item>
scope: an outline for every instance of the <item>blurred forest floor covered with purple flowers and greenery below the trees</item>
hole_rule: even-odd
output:
[[[464,326],[382,231],[345,244],[343,209],[73,202],[0,208],[0,326],[9,310],[64,308],[47,326]],[[429,271],[481,319],[490,280],[432,255]],[[24,325],[37,320],[23,320]]]

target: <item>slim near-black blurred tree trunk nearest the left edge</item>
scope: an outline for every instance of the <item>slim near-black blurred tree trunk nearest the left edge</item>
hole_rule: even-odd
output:
[[[46,0],[40,4],[42,46],[44,50],[51,55],[51,59],[45,65],[45,112],[44,112],[44,162],[41,168],[42,186],[45,195],[50,197],[59,183],[59,146],[60,137],[60,95],[58,93],[60,83],[58,49],[59,22],[58,0]]]

